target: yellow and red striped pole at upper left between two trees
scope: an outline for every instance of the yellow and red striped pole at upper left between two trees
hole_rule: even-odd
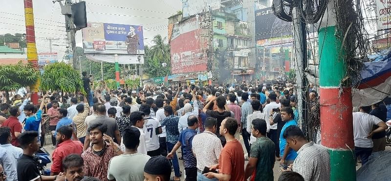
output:
[[[26,44],[27,44],[27,62],[31,63],[36,71],[38,69],[37,46],[35,45],[34,13],[33,0],[24,0],[24,20],[26,24]],[[31,102],[38,104],[38,88],[40,80],[30,86]]]

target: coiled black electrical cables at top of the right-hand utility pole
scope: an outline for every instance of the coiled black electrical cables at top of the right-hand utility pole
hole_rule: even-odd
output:
[[[305,23],[318,23],[327,8],[328,0],[273,0],[272,9],[274,14],[283,21],[291,22],[292,9],[298,8],[298,15]],[[286,12],[286,8],[289,12]]]

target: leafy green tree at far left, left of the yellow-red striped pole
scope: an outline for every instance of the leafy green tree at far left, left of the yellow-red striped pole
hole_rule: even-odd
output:
[[[9,98],[8,91],[34,85],[39,78],[40,72],[31,63],[23,64],[21,61],[16,65],[1,65],[0,91],[6,91],[6,97]]]

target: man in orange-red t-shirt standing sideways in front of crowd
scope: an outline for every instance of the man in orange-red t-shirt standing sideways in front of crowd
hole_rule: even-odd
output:
[[[221,150],[218,164],[210,167],[218,173],[204,174],[208,179],[216,178],[219,181],[244,181],[244,152],[238,139],[235,138],[238,122],[231,117],[221,122],[220,135],[224,136],[227,143]]]

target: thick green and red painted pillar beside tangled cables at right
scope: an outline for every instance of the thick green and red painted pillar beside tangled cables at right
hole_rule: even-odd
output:
[[[334,0],[330,3],[334,7]],[[332,11],[335,8],[329,6],[327,19],[323,19],[318,32],[322,145],[330,154],[330,180],[355,181],[351,87],[341,84],[347,65],[344,48],[341,48],[343,36],[336,36]]]

